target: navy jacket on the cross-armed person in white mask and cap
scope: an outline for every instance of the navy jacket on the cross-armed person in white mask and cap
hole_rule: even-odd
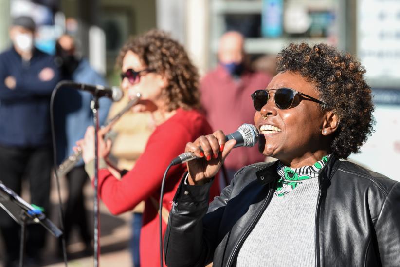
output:
[[[54,72],[49,81],[39,77],[45,68]],[[9,76],[14,77],[15,87],[7,87],[5,79]],[[50,96],[59,79],[54,57],[37,49],[30,61],[22,60],[14,48],[0,54],[0,145],[51,144]]]

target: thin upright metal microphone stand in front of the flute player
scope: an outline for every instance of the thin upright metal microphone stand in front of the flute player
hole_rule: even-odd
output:
[[[93,247],[94,247],[94,267],[99,266],[100,258],[100,213],[99,213],[99,195],[98,195],[98,171],[99,171],[99,158],[98,158],[98,131],[99,131],[99,97],[94,95],[91,100],[91,110],[93,112],[93,125],[94,125],[94,236],[93,236]]]

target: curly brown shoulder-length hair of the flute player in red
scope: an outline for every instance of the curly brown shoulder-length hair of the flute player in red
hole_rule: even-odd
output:
[[[128,51],[141,58],[142,63],[168,80],[163,96],[167,111],[177,108],[200,108],[199,74],[183,46],[161,30],[150,30],[131,38],[117,57],[117,67]]]

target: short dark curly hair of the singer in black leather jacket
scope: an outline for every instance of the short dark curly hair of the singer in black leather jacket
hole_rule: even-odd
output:
[[[319,90],[322,109],[331,110],[339,118],[333,135],[331,152],[339,158],[359,153],[372,133],[375,123],[371,88],[365,81],[365,69],[349,53],[327,44],[293,44],[277,57],[280,72],[296,72]]]

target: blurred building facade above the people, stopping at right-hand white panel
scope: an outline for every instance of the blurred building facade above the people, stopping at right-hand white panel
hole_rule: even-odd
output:
[[[47,5],[53,23],[81,41],[96,70],[114,70],[129,36],[151,28],[171,32],[203,74],[217,64],[218,39],[227,30],[246,37],[252,58],[276,54],[290,42],[327,42],[352,53],[356,48],[356,2],[346,0],[0,0],[0,48],[9,43],[15,2]],[[360,2],[362,0],[358,0]],[[11,14],[12,16],[13,14]]]

